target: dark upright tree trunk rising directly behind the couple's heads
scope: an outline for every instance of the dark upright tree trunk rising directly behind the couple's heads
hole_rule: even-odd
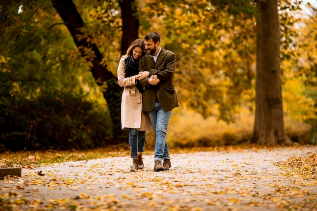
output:
[[[139,18],[134,0],[119,1],[122,16],[121,54],[125,55],[134,39],[139,38]]]

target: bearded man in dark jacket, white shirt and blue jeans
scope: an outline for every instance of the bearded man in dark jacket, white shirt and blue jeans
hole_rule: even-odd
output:
[[[173,81],[176,55],[162,49],[160,41],[158,33],[148,33],[144,37],[147,55],[139,61],[139,72],[149,72],[148,77],[140,80],[140,84],[145,88],[142,110],[148,112],[155,135],[155,172],[169,170],[171,167],[166,131],[172,109],[178,106]]]

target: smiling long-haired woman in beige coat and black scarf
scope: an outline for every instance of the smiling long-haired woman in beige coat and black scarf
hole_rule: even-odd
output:
[[[146,54],[144,41],[136,39],[122,56],[118,65],[118,85],[125,87],[121,101],[121,123],[123,130],[129,130],[131,172],[144,167],[142,152],[145,145],[145,131],[151,130],[148,114],[142,112],[143,87],[139,80],[148,77],[148,71],[138,72],[139,59]]]

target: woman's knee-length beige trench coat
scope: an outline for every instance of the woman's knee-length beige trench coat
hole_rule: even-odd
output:
[[[125,77],[125,58],[121,58],[117,72],[118,85],[125,87],[121,97],[122,129],[152,130],[147,112],[142,111],[142,94],[135,86],[135,76]]]

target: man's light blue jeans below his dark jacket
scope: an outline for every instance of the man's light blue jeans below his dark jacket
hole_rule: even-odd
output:
[[[170,159],[169,147],[166,142],[167,125],[170,121],[172,110],[166,111],[156,99],[153,110],[148,112],[155,135],[154,161]]]

